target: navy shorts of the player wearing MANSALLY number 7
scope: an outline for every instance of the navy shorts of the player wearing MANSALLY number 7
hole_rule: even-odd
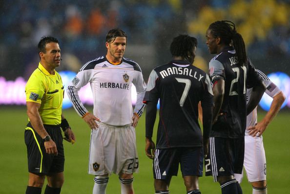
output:
[[[203,157],[203,147],[156,149],[153,176],[162,180],[177,176],[179,164],[182,176],[202,176]]]

